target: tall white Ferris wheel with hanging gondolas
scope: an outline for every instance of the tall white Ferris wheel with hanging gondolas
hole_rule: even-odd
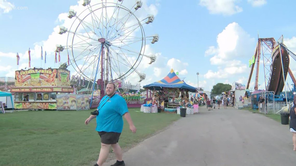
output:
[[[157,42],[159,35],[146,36],[143,28],[153,22],[154,16],[136,16],[141,1],[130,8],[123,6],[123,0],[97,2],[84,0],[85,9],[80,13],[70,9],[68,17],[74,19],[73,24],[69,29],[60,26],[59,30],[59,34],[67,35],[67,45],[57,45],[56,51],[66,48],[77,74],[91,82],[100,79],[102,87],[133,72],[141,82],[146,75],[136,68],[142,58],[149,58],[149,64],[156,60],[155,55],[145,55],[145,46],[148,40]]]

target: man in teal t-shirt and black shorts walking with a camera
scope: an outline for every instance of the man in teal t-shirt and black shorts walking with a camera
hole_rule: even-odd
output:
[[[86,119],[85,124],[96,118],[96,131],[101,137],[101,150],[99,159],[94,166],[102,166],[106,161],[110,147],[116,155],[116,162],[111,166],[125,166],[122,160],[122,150],[118,144],[120,134],[123,129],[123,118],[129,124],[129,128],[136,133],[136,127],[131,120],[126,101],[120,95],[115,94],[115,84],[108,83],[106,86],[106,96],[100,101],[97,110]]]

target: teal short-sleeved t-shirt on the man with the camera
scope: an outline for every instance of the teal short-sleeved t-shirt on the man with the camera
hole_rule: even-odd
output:
[[[126,100],[117,94],[110,100],[108,100],[109,98],[107,95],[104,96],[98,106],[96,131],[121,133],[123,129],[122,115],[128,112]],[[104,104],[105,102],[106,104]]]

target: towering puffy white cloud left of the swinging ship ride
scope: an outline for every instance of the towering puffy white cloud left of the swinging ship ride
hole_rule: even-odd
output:
[[[218,34],[218,46],[210,46],[205,55],[214,55],[210,58],[211,64],[224,65],[227,60],[252,55],[254,43],[255,39],[251,38],[238,23],[233,22]]]

